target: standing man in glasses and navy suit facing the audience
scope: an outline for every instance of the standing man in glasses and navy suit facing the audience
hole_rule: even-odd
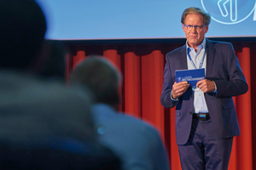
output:
[[[161,104],[176,106],[176,137],[183,169],[228,169],[233,137],[240,134],[232,97],[247,92],[233,46],[205,37],[210,15],[200,8],[182,14],[187,42],[166,54]],[[205,68],[196,88],[176,82],[175,71]]]

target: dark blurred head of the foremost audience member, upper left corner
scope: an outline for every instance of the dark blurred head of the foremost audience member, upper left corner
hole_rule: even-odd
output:
[[[34,0],[0,0],[0,67],[27,69],[46,31],[42,9]]]

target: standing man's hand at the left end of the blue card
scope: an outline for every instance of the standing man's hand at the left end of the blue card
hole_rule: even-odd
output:
[[[172,85],[172,99],[179,98],[187,91],[188,88],[189,82],[174,82]]]

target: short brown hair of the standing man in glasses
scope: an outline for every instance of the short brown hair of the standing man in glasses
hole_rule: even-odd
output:
[[[201,8],[196,8],[196,7],[190,7],[186,8],[183,11],[182,18],[181,18],[181,23],[184,24],[184,21],[186,19],[186,16],[188,14],[201,14],[204,19],[204,25],[208,26],[211,22],[211,16],[210,14],[205,13],[204,11],[201,10]]]

